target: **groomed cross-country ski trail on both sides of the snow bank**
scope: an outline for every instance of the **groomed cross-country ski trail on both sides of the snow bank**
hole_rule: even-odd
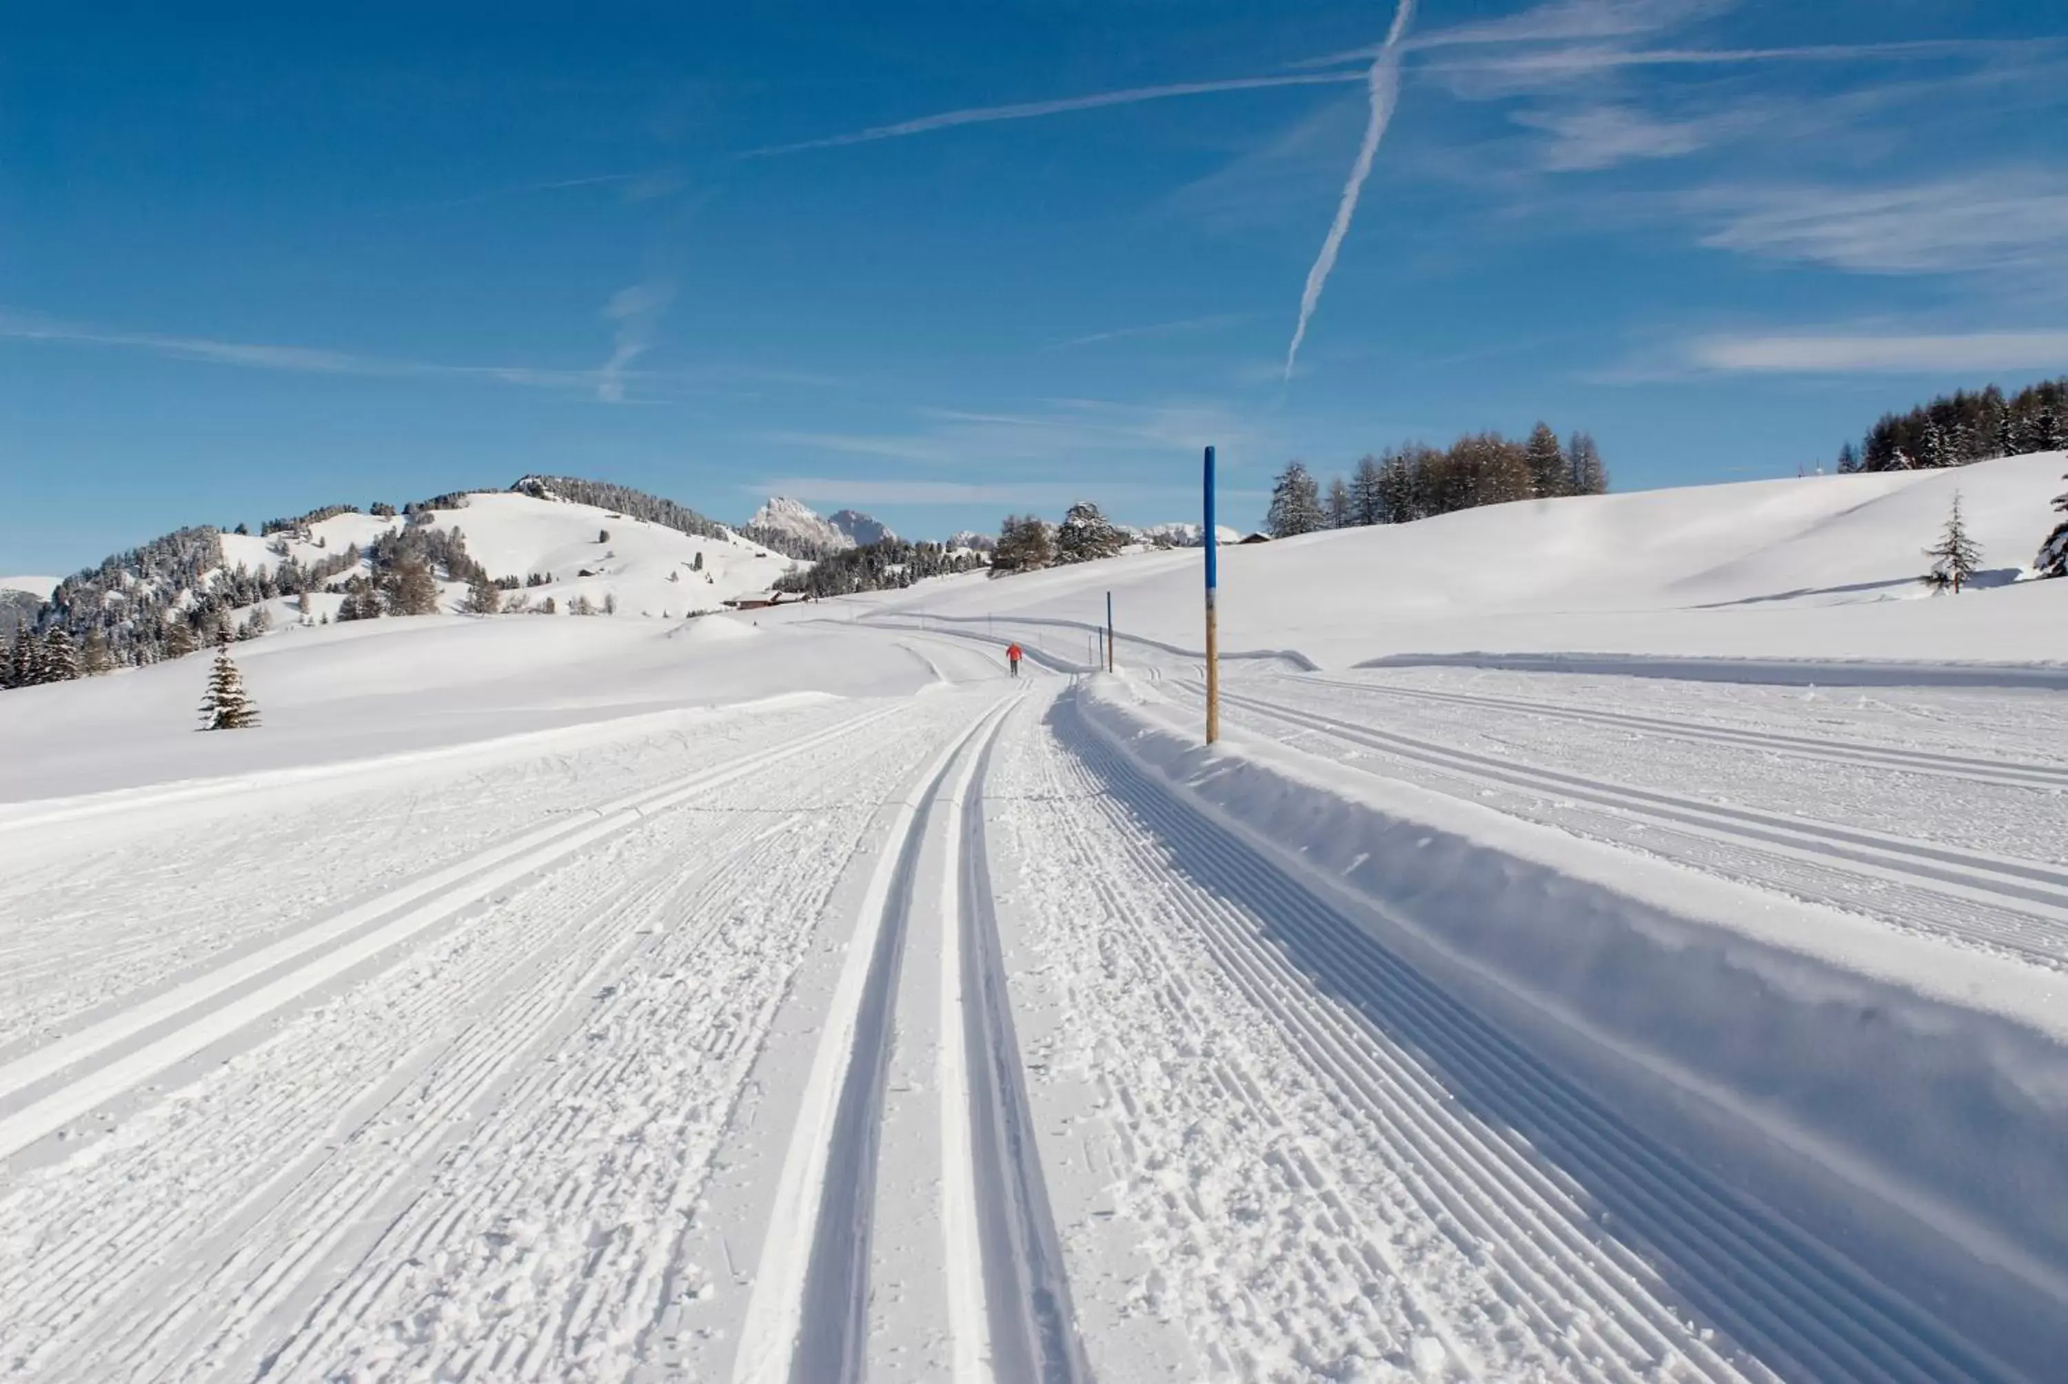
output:
[[[2056,1328],[1991,1334],[2043,1314],[1971,1310],[2002,1264],[1938,1293],[1795,1214],[1822,1183],[1739,1185],[1139,757],[1084,699],[1123,683],[895,637],[918,695],[0,819],[0,1376],[2045,1378]],[[1144,695],[1195,708],[1187,674]],[[1394,705],[1921,776],[2006,821],[2068,786],[2041,755],[1226,695],[1332,770],[2068,964],[2068,863]]]

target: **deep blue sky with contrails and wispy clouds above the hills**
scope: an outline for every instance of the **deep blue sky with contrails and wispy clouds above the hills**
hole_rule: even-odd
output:
[[[1396,14],[10,6],[0,571],[527,470],[922,536],[1537,418],[1739,480],[2068,372],[2056,4]]]

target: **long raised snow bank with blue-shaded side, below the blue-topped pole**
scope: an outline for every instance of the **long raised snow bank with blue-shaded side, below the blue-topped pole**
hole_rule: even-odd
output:
[[[1073,716],[1632,1123],[2010,1355],[2068,1349],[2058,972],[1278,745],[1210,751],[1119,679]]]

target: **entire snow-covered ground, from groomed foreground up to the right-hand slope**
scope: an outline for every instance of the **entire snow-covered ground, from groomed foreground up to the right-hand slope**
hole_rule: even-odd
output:
[[[1503,509],[1243,550],[1214,749],[1197,552],[8,693],[0,1372],[2060,1378],[2068,583]]]

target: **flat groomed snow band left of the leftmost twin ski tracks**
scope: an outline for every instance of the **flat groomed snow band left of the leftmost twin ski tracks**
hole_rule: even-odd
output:
[[[840,710],[846,716],[852,710]],[[29,869],[0,881],[0,1061],[277,941],[314,912],[354,908],[492,848],[513,828],[575,821],[622,796],[627,782],[666,786],[701,768],[697,755],[778,747],[827,720],[825,710],[786,710],[713,720],[695,728],[695,741],[678,730],[604,745],[591,757],[608,759],[608,776],[585,774],[569,755],[490,765],[434,794],[438,815],[420,819],[426,830],[407,852],[376,850],[397,811],[393,786],[314,805],[290,799],[279,811],[258,799],[232,832],[155,832],[114,846],[99,830],[58,834],[31,852]],[[225,916],[223,881],[256,875],[267,887]],[[151,883],[149,925],[134,908],[141,879]]]

